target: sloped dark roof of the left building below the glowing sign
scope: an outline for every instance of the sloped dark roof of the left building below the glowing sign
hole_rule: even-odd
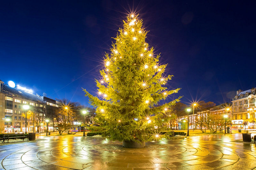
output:
[[[27,99],[27,100],[44,102],[37,95],[31,94],[31,93],[26,92],[26,91],[21,90],[21,89],[17,89],[16,87],[12,88],[12,87],[8,86],[7,84],[3,84],[3,93],[9,94],[9,95],[13,94],[17,97]]]

